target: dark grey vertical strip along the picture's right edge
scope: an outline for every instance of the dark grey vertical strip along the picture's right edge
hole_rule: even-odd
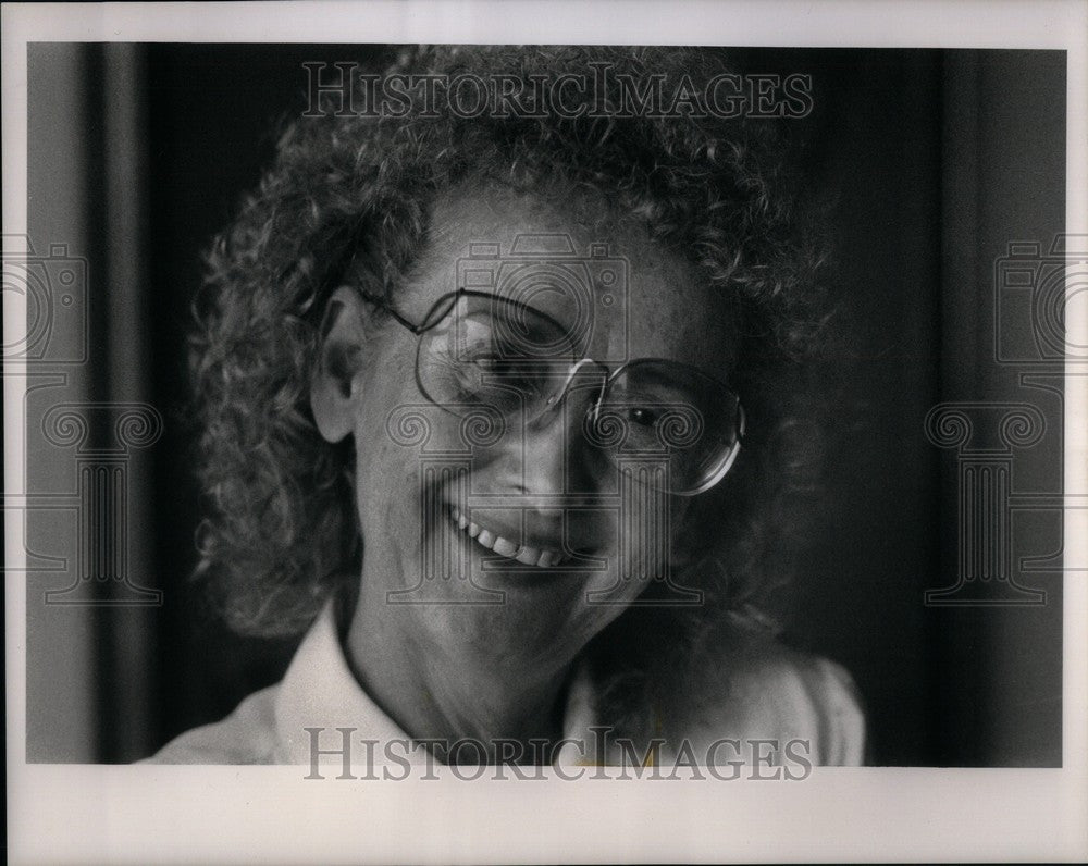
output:
[[[1023,346],[1006,337],[1031,330],[1043,344],[1048,336],[1064,344],[1064,331],[1051,322],[1056,326],[1048,334],[1038,305],[1023,302],[1043,297],[1043,285],[1004,284],[1002,259],[1015,255],[1017,272],[1029,281],[1064,274],[1054,245],[1065,225],[1065,57],[956,51],[942,70],[940,398],[1034,407],[1041,433],[1030,447],[1013,449],[1009,468],[1012,561],[1002,568],[1021,589],[966,593],[1004,604],[931,610],[940,661],[934,695],[948,707],[937,759],[1061,766],[1063,359],[1048,358],[1037,341]],[[1064,280],[1060,285],[1063,295]],[[966,415],[976,437],[945,450],[940,472],[941,566],[950,577],[963,547],[950,532],[964,499],[957,470],[972,460],[992,472],[999,461],[980,451],[999,450],[1007,438],[987,429],[999,422],[987,408]],[[986,539],[974,545],[990,546]],[[1033,561],[1021,565],[1019,556]],[[998,570],[979,565],[982,572]]]

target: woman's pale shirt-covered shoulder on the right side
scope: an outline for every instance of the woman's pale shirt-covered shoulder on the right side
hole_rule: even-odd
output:
[[[663,709],[668,727],[693,744],[729,738],[801,742],[814,764],[856,766],[865,758],[865,715],[841,665],[767,636],[695,653]]]

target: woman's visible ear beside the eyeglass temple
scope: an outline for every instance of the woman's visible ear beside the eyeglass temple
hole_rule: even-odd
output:
[[[363,301],[348,286],[337,288],[325,305],[318,360],[310,381],[310,408],[318,431],[339,442],[355,430],[363,357]]]

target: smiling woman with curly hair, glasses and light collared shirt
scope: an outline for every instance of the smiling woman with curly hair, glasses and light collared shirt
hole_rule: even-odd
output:
[[[306,636],[157,760],[860,763],[849,676],[774,640],[824,300],[768,122],[684,98],[734,81],[445,48],[358,90],[395,106],[288,129],[209,257],[194,370],[201,573],[234,627]],[[547,110],[504,100],[542,82]]]

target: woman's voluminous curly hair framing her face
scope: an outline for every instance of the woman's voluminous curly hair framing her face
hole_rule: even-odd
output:
[[[569,47],[416,49],[390,72],[473,73],[494,86],[500,76],[589,74],[591,62],[696,88],[730,72],[717,51]],[[621,98],[615,85],[598,96]],[[826,318],[823,246],[774,124],[621,111],[466,117],[441,103],[424,114],[415,102],[403,116],[317,113],[283,134],[274,164],[208,253],[196,302],[191,371],[209,512],[198,574],[227,622],[297,633],[334,587],[358,580],[354,446],[326,443],[309,408],[321,309],[346,271],[394,297],[426,247],[436,197],[481,181],[599,193],[734,299],[742,345],[724,374],[749,431],[691,524],[698,564],[685,580],[710,608],[676,622],[691,636],[693,623],[762,621],[813,510],[819,423],[798,383]]]

